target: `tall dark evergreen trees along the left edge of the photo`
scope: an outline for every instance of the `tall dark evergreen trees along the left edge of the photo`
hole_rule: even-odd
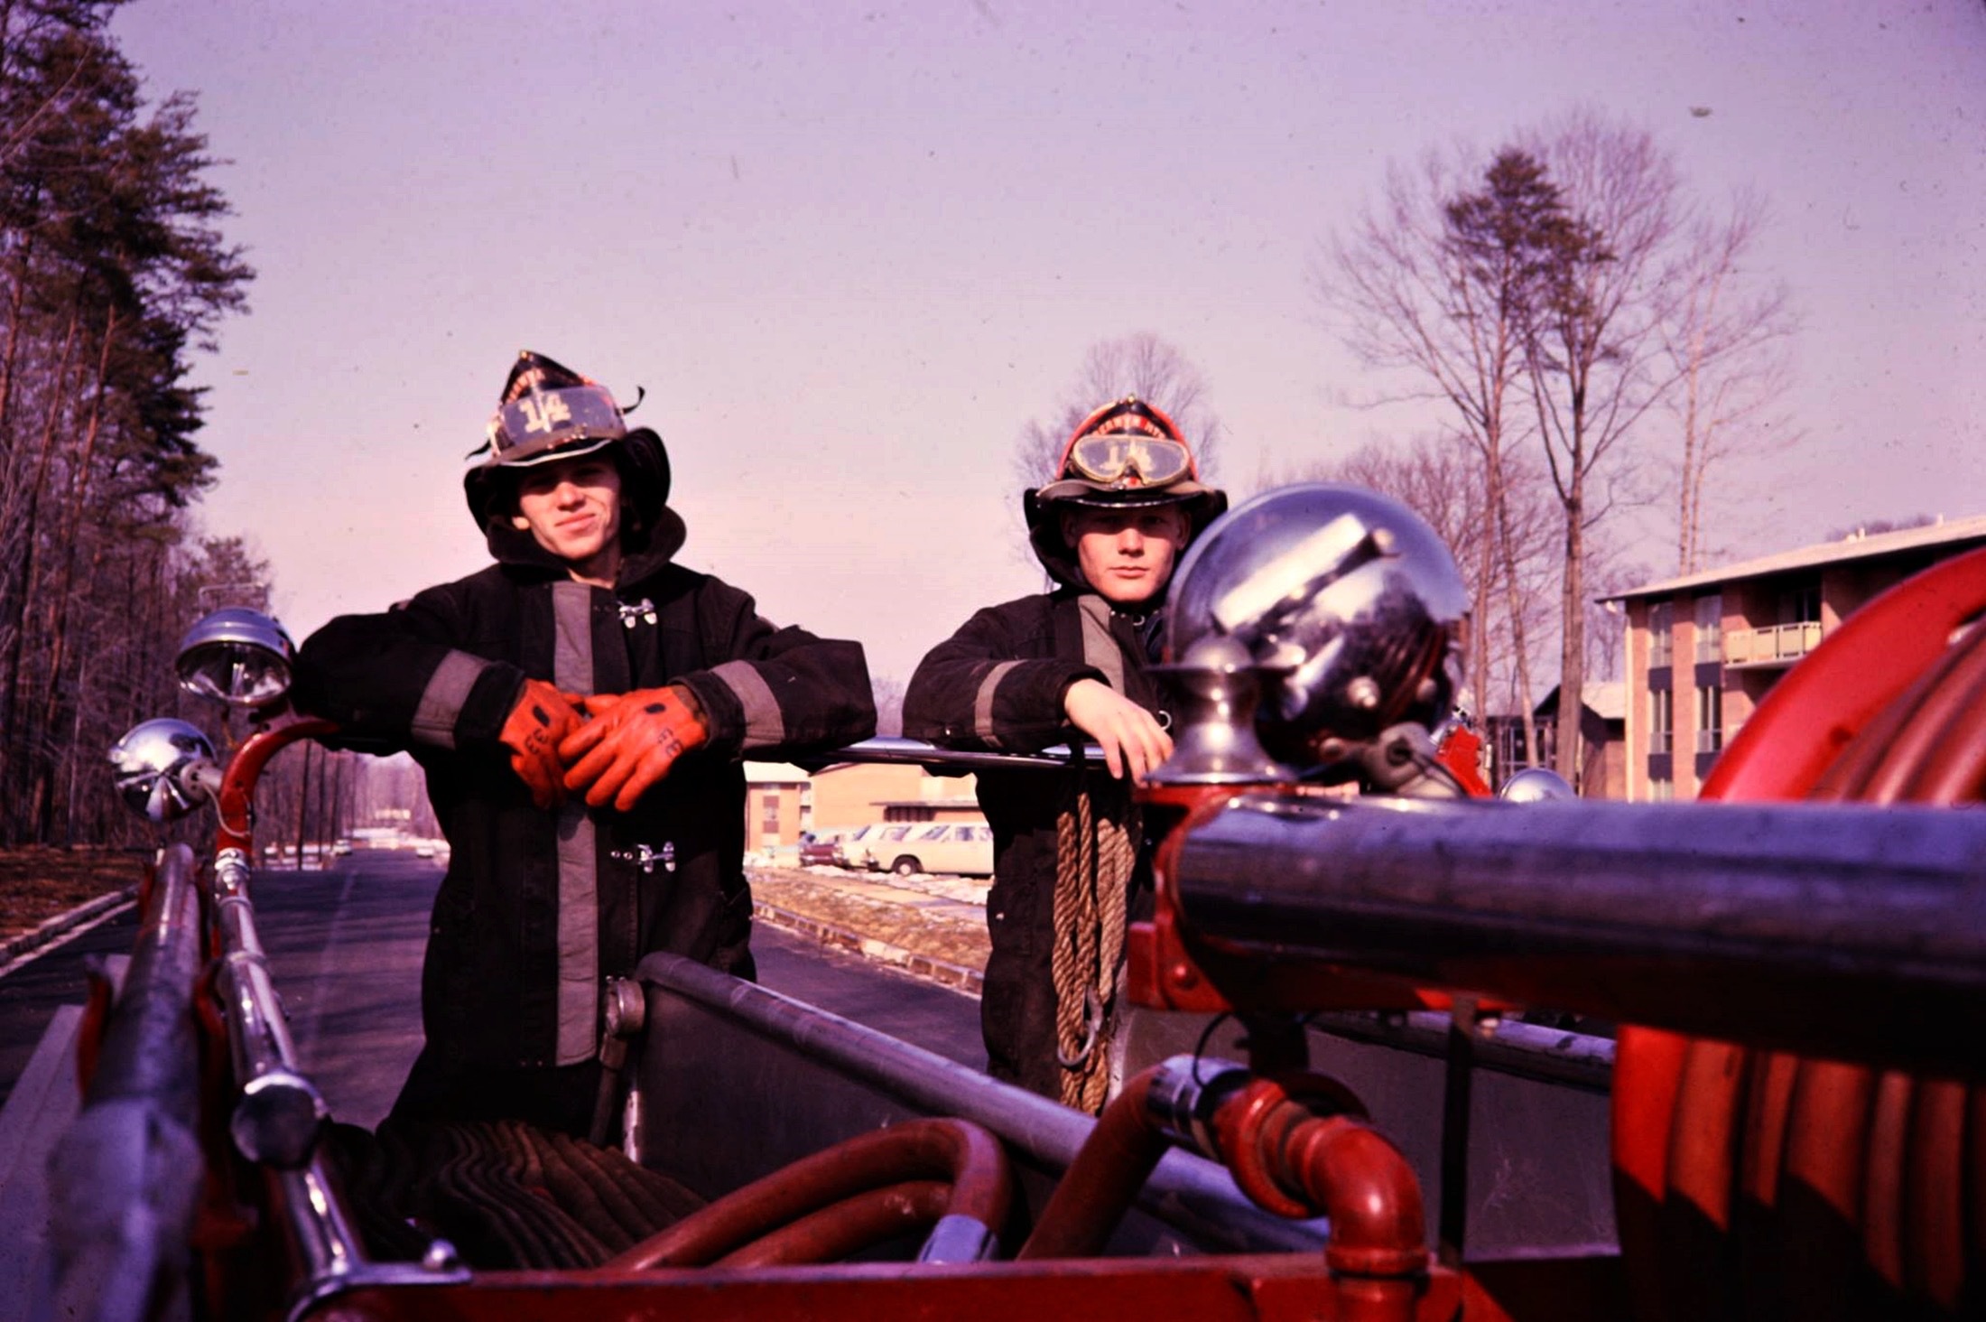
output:
[[[105,0],[0,0],[0,843],[131,841],[103,749],[173,714],[187,624],[268,571],[189,517],[191,356],[244,306],[195,105]],[[244,588],[246,590],[246,588]]]

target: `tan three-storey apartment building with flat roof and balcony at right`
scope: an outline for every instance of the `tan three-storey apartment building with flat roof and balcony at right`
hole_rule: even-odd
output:
[[[1627,616],[1627,797],[1696,797],[1793,662],[1867,600],[1974,547],[1986,547],[1986,515],[1853,533],[1601,598]]]

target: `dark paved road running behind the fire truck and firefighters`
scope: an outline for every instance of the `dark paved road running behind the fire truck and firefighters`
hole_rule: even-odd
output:
[[[427,912],[441,867],[405,853],[355,853],[324,873],[266,871],[256,914],[290,1032],[334,1115],[375,1125],[421,1044]],[[123,954],[121,914],[0,978],[0,1103],[56,1008],[87,994],[85,958]],[[759,980],[844,1018],[983,1068],[979,1002],[777,928],[753,936]]]

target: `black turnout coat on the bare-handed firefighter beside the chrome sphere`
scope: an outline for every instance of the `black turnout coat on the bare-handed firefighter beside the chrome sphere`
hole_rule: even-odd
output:
[[[1072,575],[1072,567],[1064,569]],[[1063,696],[1076,680],[1104,680],[1146,710],[1162,712],[1162,692],[1146,674],[1156,632],[1158,616],[1120,614],[1080,586],[987,606],[918,664],[904,694],[904,734],[945,747],[999,751],[1080,740],[1063,714]],[[1084,775],[1108,781],[1102,769]],[[1068,773],[981,771],[977,783],[979,807],[993,825],[987,895],[993,950],[979,1002],[987,1072],[1059,1097],[1055,853]]]

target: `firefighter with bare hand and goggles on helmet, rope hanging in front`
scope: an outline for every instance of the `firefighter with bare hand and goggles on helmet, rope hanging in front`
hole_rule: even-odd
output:
[[[1023,495],[1029,541],[1055,588],[987,606],[935,646],[904,696],[904,734],[945,747],[1037,751],[1070,738],[1102,745],[1108,775],[1082,775],[1084,793],[1128,809],[1132,779],[1172,753],[1158,660],[1166,584],[1178,555],[1227,497],[1200,483],[1180,429],[1160,410],[1124,398],[1090,413],[1070,437],[1049,485]],[[993,823],[995,875],[987,897],[993,952],[981,1028],[987,1070],[1084,1109],[1100,1105],[1104,1004],[1122,948],[1126,887],[1104,910],[1108,968],[1090,968],[1080,1024],[1059,1034],[1059,857],[1068,853],[1070,783],[1045,771],[981,771],[979,805]],[[1132,837],[1130,847],[1138,847]],[[1140,851],[1142,853],[1142,851]],[[1066,871],[1066,869],[1063,869]],[[1064,901],[1066,901],[1064,879]],[[1064,950],[1070,954],[1072,946]],[[1098,976],[1100,974],[1100,976]],[[1064,1040],[1066,1038],[1066,1040]],[[1104,1048],[1104,1050],[1098,1050]]]

